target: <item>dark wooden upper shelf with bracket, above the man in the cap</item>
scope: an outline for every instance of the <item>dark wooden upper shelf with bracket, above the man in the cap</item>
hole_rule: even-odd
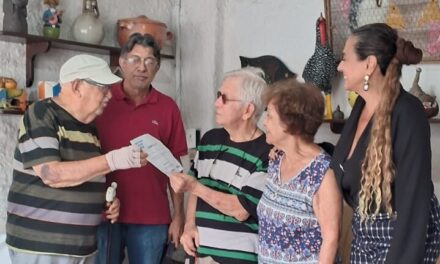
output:
[[[9,31],[0,31],[0,40],[26,45],[26,87],[31,86],[34,81],[35,56],[48,52],[51,48],[109,55],[110,66],[118,66],[119,54],[121,52],[121,49],[118,47],[94,45],[66,39],[54,39]],[[174,59],[174,56],[166,54],[161,54],[161,57],[165,59]]]

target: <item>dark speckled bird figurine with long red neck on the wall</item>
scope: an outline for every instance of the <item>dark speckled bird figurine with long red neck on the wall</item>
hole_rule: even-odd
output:
[[[302,77],[308,83],[317,86],[325,94],[324,119],[332,118],[331,80],[336,75],[336,59],[330,49],[326,34],[326,20],[321,16],[316,21],[315,52],[304,67]]]

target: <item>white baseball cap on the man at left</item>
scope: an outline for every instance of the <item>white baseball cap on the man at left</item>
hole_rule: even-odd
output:
[[[76,79],[88,79],[103,85],[122,81],[112,73],[105,60],[87,54],[73,56],[61,66],[60,83]]]

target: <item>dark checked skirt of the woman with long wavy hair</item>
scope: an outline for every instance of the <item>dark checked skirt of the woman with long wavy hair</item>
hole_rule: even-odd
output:
[[[352,220],[353,242],[350,253],[351,264],[385,263],[393,238],[394,215],[380,213],[374,220],[361,222],[355,212]],[[411,241],[408,241],[411,243]],[[425,243],[423,263],[435,264],[440,255],[440,206],[435,196],[431,199],[430,219]]]

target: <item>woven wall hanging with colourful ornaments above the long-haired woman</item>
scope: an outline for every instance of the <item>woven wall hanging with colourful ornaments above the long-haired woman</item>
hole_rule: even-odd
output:
[[[345,41],[352,30],[370,23],[387,23],[399,36],[423,51],[423,62],[440,61],[440,0],[324,0],[330,45],[342,59]],[[350,1],[349,19],[345,18]]]

